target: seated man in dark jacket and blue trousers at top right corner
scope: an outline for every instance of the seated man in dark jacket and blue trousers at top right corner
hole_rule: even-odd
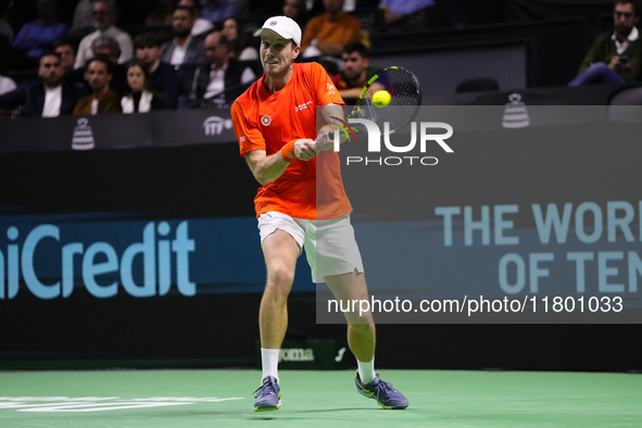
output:
[[[568,86],[625,83],[640,78],[642,39],[635,24],[640,21],[640,2],[616,0],[613,12],[615,30],[593,41],[578,76]]]

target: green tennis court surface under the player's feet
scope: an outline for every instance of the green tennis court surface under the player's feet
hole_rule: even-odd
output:
[[[252,412],[257,370],[0,373],[0,427],[640,427],[642,376],[381,370],[410,400],[379,408],[353,372],[281,370],[282,407]]]

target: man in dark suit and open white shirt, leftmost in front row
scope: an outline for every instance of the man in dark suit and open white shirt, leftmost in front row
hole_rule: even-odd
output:
[[[80,92],[63,81],[63,73],[60,56],[55,52],[42,53],[38,67],[39,80],[21,85],[0,96],[0,109],[23,105],[24,116],[40,117],[72,113]]]

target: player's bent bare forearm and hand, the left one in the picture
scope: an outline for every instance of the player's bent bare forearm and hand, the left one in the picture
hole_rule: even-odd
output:
[[[250,171],[254,175],[254,178],[256,178],[256,181],[262,186],[268,185],[279,178],[286,172],[288,165],[290,165],[291,161],[288,162],[284,159],[288,159],[287,154],[284,155],[282,153],[284,150],[288,150],[286,147],[270,155],[267,155],[265,150],[252,150],[244,154]],[[310,161],[316,155],[314,140],[300,139],[293,141],[291,153],[293,155],[291,158],[292,161],[294,158],[302,161]]]

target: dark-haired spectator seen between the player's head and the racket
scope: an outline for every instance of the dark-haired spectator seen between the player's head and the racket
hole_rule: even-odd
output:
[[[369,65],[367,48],[360,41],[349,41],[343,46],[341,60],[343,71],[332,78],[332,83],[343,99],[357,99],[363,87],[379,68]]]

